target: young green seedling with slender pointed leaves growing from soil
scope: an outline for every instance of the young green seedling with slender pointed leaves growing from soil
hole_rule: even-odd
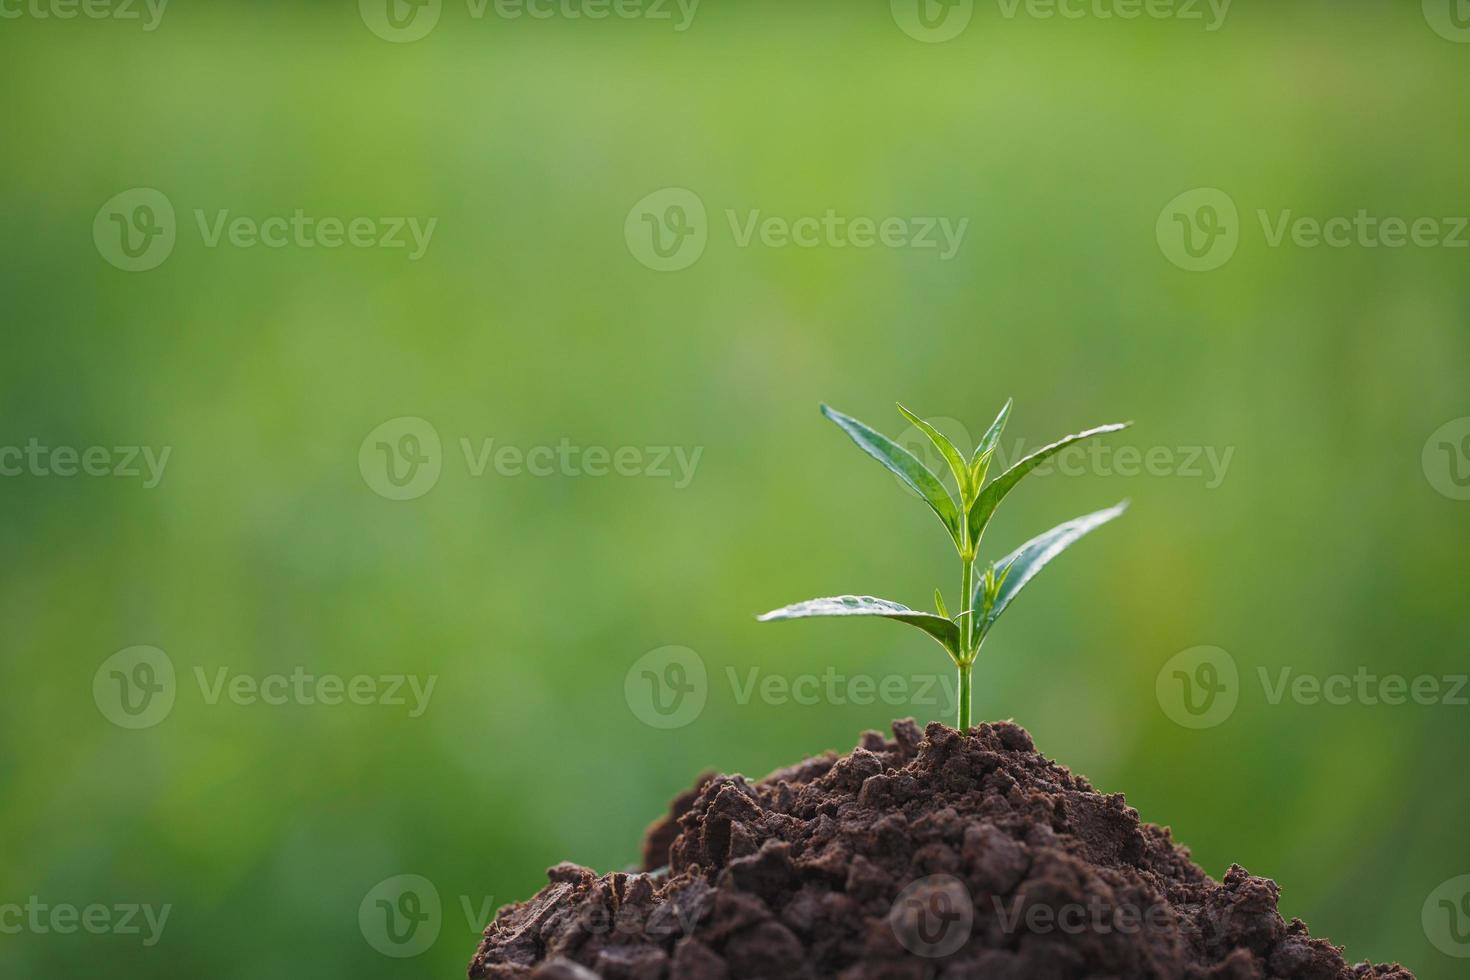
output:
[[[903,406],[898,406],[898,411],[933,442],[935,448],[950,464],[960,492],[957,502],[944,488],[944,483],[939,482],[939,478],[908,453],[908,450],[875,432],[857,419],[822,406],[822,414],[847,432],[853,442],[857,442],[858,448],[892,470],[898,479],[919,494],[944,523],[945,530],[950,532],[950,538],[954,541],[956,551],[960,552],[960,608],[958,613],[950,616],[939,589],[933,591],[938,613],[920,613],[907,605],[889,602],[888,599],[876,599],[870,595],[835,595],[773,610],[760,616],[760,621],[808,619],[813,616],[881,616],[917,626],[938,641],[960,669],[958,727],[961,732],[969,729],[970,670],[980,652],[980,644],[985,642],[991,627],[995,626],[995,620],[1000,619],[1001,613],[1010,607],[1020,591],[1036,577],[1036,573],[1048,561],[1066,551],[1089,530],[1105,525],[1127,508],[1127,501],[1123,501],[1116,507],[1108,507],[1107,510],[1058,525],[1047,533],[1032,538],[1000,561],[991,561],[985,566],[985,572],[979,576],[979,580],[976,580],[975,557],[980,547],[980,538],[985,533],[985,526],[995,514],[995,508],[1005,500],[1005,495],[1028,473],[1069,445],[1107,432],[1126,429],[1129,425],[1126,422],[1104,425],[1057,439],[1051,445],[1042,447],[1017,461],[986,483],[985,478],[989,472],[991,458],[1005,428],[1005,420],[1010,417],[1010,408],[1011,403],[1007,401],[989,430],[980,439],[980,444],[975,447],[975,453],[970,454],[969,461],[966,461],[960,450],[942,432]]]

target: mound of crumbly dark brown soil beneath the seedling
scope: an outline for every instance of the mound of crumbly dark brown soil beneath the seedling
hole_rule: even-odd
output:
[[[469,976],[538,980],[1413,980],[1282,921],[1274,882],[1213,880],[1025,729],[894,724],[751,783],[704,776],[645,868],[548,871]]]

